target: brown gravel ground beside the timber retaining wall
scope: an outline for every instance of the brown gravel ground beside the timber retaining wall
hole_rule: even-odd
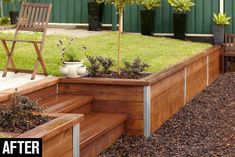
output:
[[[147,139],[122,136],[100,157],[235,157],[235,73],[220,76]]]

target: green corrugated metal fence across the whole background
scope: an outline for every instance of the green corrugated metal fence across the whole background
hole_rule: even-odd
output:
[[[87,23],[87,0],[29,0],[34,3],[52,3],[51,22],[56,23]],[[188,15],[188,33],[209,34],[212,28],[213,12],[219,12],[219,0],[194,0],[196,6],[192,7]],[[162,5],[155,9],[155,32],[172,33],[173,9],[167,0],[161,0]],[[233,16],[232,25],[227,27],[228,32],[235,32],[235,0],[224,0],[224,10],[229,16]],[[17,5],[19,9],[20,5]],[[4,3],[4,15],[8,15],[10,4]],[[141,6],[131,5],[125,8],[124,31],[140,31],[140,10]],[[115,20],[115,21],[114,21]],[[116,22],[114,7],[105,5],[105,24]]]

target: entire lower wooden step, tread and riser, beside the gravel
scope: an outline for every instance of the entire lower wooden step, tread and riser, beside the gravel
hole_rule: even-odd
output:
[[[93,112],[81,122],[80,152],[82,157],[97,156],[125,132],[126,115]]]

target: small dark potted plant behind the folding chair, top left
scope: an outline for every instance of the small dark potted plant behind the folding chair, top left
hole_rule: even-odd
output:
[[[11,24],[15,25],[17,24],[19,12],[16,10],[16,3],[17,2],[26,2],[26,0],[4,0],[5,3],[11,3],[13,5],[13,10],[9,11]]]

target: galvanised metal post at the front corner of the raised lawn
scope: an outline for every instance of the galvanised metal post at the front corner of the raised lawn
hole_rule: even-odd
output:
[[[144,136],[151,134],[151,96],[150,86],[144,86]]]

